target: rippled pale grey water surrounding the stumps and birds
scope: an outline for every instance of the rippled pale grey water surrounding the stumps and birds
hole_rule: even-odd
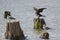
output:
[[[40,33],[33,29],[33,19],[35,11],[33,7],[47,8],[41,13],[50,34],[49,40],[60,40],[60,0],[0,0],[0,40],[6,40],[6,20],[3,18],[4,11],[10,11],[12,16],[20,20],[20,26],[28,40],[44,40],[40,38]]]

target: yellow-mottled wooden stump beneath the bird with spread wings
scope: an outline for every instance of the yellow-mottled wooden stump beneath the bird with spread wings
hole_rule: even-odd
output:
[[[46,25],[44,19],[34,18],[34,29],[43,29],[43,25]]]

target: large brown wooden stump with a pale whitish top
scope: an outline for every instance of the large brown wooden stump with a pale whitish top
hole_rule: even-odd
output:
[[[14,40],[24,38],[24,34],[18,20],[10,20],[9,22],[7,22],[5,38]]]

